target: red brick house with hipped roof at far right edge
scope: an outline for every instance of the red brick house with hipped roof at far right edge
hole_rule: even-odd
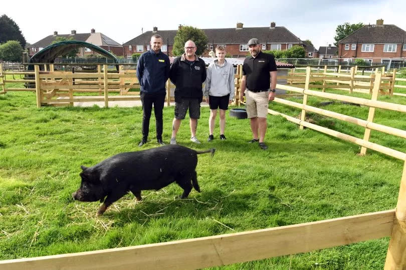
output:
[[[385,62],[389,58],[406,57],[406,31],[395,25],[365,25],[338,42],[338,56],[350,61],[363,58],[366,62]],[[374,59],[377,58],[377,59]]]

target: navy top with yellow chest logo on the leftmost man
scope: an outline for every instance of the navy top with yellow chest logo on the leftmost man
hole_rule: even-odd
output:
[[[165,92],[165,83],[169,78],[169,57],[151,49],[143,53],[137,62],[137,78],[141,92],[161,94]]]

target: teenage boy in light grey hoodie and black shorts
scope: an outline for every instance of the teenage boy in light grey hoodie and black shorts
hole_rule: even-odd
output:
[[[209,65],[204,96],[210,105],[209,139],[213,141],[214,127],[217,109],[220,109],[220,140],[225,140],[224,129],[226,127],[226,110],[234,99],[234,67],[227,62],[226,47],[218,45],[216,48],[217,59]]]

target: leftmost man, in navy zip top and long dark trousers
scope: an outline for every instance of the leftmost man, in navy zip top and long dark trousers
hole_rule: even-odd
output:
[[[142,102],[142,140],[138,146],[147,142],[149,133],[149,119],[152,105],[155,113],[156,141],[163,145],[162,141],[162,110],[165,103],[165,83],[169,78],[169,57],[161,52],[162,37],[151,37],[151,50],[143,53],[137,62],[137,78],[141,86]]]

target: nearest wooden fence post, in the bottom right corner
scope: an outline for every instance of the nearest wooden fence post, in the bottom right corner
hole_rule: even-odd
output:
[[[406,268],[406,162],[403,165],[385,270]]]

